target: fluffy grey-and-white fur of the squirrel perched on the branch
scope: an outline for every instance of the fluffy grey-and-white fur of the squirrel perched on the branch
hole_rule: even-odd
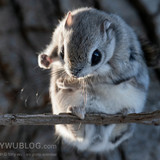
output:
[[[72,21],[67,24],[69,15],[60,22],[50,45],[39,55],[40,67],[45,67],[41,61],[43,54],[49,57],[49,62],[53,60],[49,66],[53,113],[72,112],[83,119],[86,112],[141,112],[149,78],[134,31],[119,16],[92,8],[72,11]],[[96,49],[102,60],[91,66]],[[102,152],[128,139],[133,132],[131,128],[128,124],[57,125],[56,132],[80,150]]]

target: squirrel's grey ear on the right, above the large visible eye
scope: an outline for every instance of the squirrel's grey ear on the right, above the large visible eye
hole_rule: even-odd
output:
[[[104,33],[107,34],[107,39],[111,39],[112,38],[112,36],[113,36],[113,25],[108,19],[105,19],[102,22],[101,31],[102,31],[103,34]]]

